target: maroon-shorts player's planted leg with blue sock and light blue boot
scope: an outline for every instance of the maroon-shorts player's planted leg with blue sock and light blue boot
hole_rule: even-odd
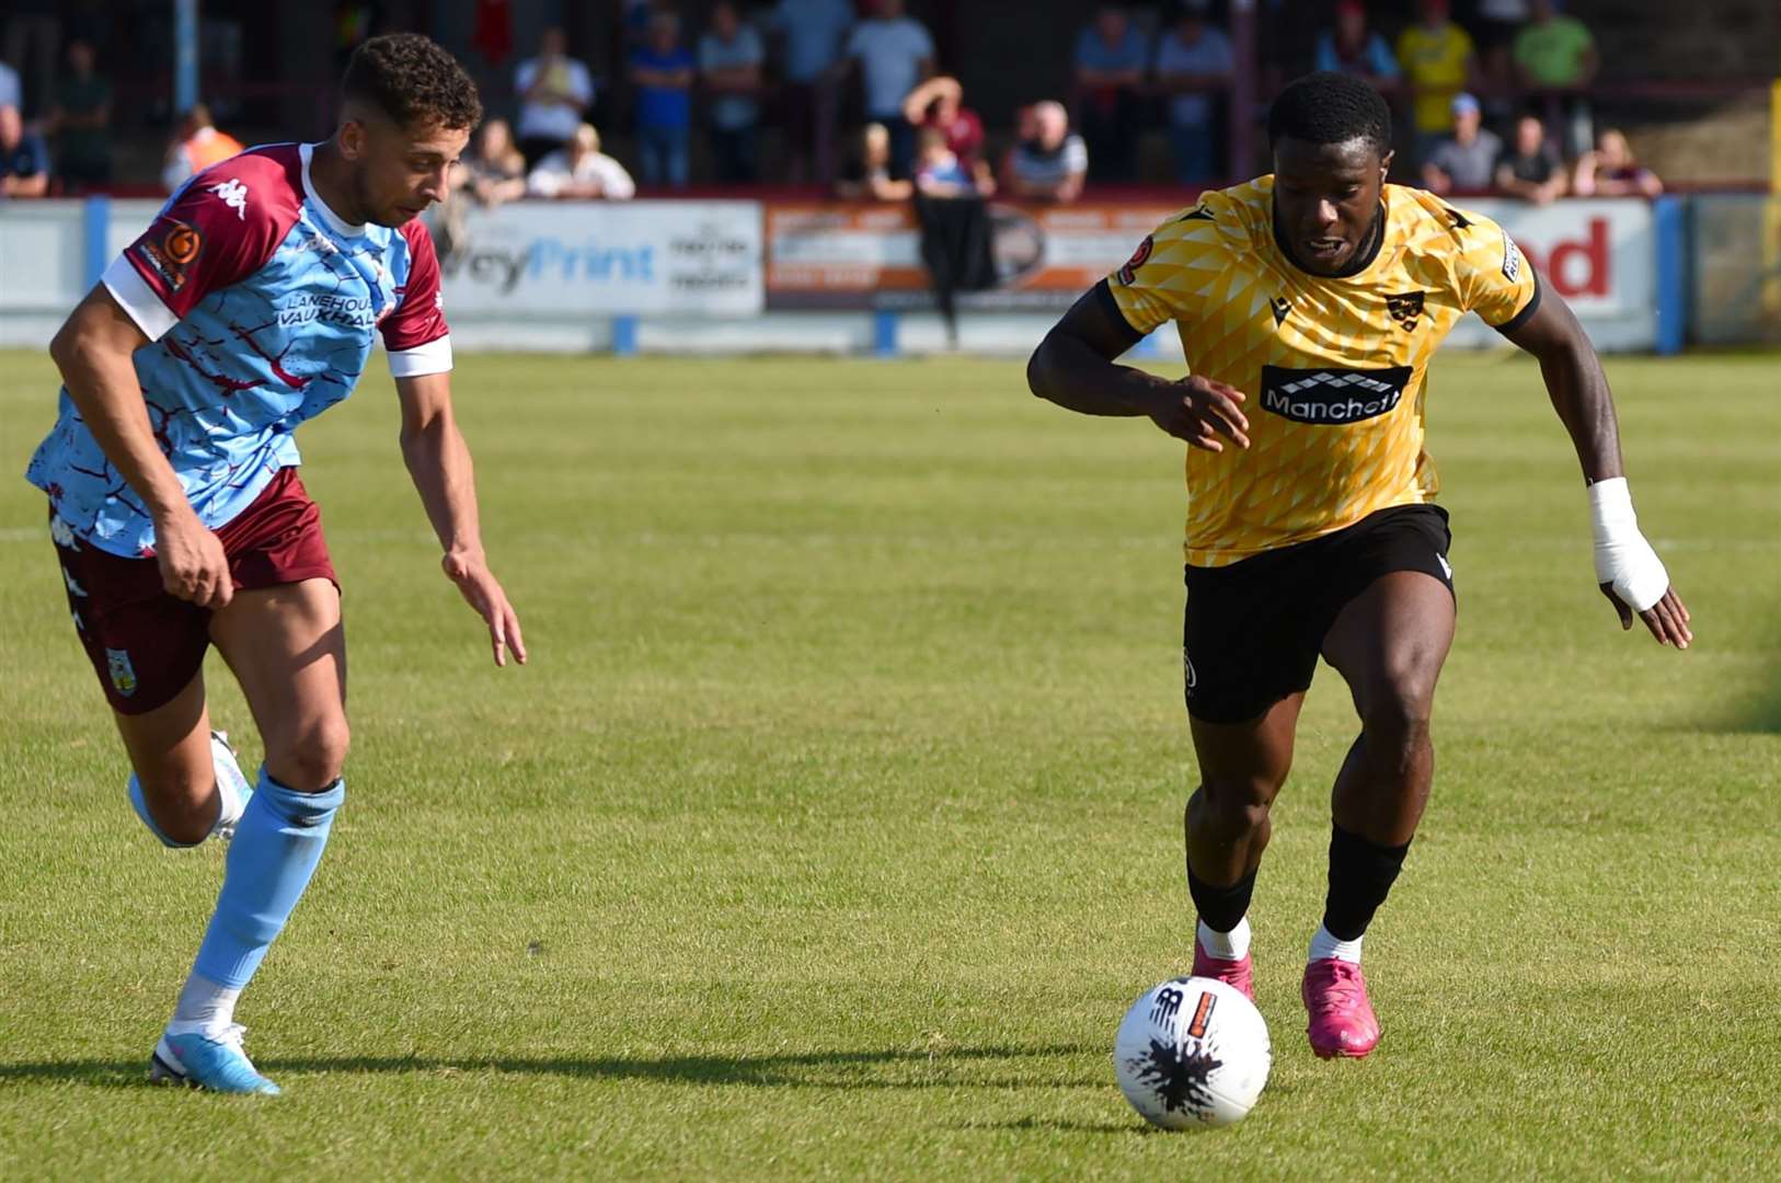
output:
[[[265,764],[153,1074],[221,1092],[278,1092],[242,1051],[233,1012],[308,887],[346,798],[340,593],[328,579],[237,592],[212,616],[210,638],[248,695]]]

